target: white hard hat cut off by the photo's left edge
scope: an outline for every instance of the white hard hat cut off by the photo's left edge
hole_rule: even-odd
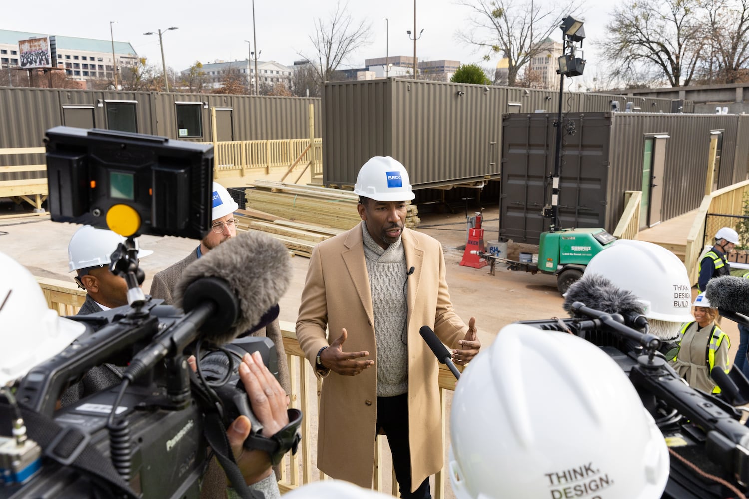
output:
[[[0,386],[57,355],[85,331],[85,325],[57,315],[31,272],[0,253]]]

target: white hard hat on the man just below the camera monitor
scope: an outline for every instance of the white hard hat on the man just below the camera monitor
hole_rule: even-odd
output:
[[[84,225],[76,230],[67,244],[68,272],[88,267],[109,266],[112,251],[124,242],[125,238],[112,230],[97,229]],[[138,245],[138,239],[136,246]],[[138,249],[138,258],[148,257],[153,251]]]

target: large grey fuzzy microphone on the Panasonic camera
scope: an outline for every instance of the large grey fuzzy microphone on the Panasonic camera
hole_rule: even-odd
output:
[[[213,301],[216,310],[201,332],[204,339],[222,345],[263,322],[272,322],[290,279],[283,243],[253,230],[237,234],[191,263],[177,284],[175,302],[189,313],[199,304]]]

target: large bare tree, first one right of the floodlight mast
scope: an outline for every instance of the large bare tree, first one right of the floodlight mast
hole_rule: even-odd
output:
[[[700,0],[628,0],[614,8],[601,44],[613,75],[631,86],[645,73],[671,87],[689,85],[705,33]]]

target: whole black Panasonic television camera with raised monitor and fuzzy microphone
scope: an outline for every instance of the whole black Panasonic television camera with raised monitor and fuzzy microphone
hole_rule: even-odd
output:
[[[296,451],[301,412],[289,409],[288,426],[265,437],[237,373],[243,353],[257,351],[277,376],[273,342],[243,336],[278,315],[288,285],[285,248],[265,241],[262,255],[244,251],[246,267],[260,269],[255,288],[244,290],[246,278],[211,272],[236,251],[232,245],[246,250],[252,237],[262,238],[237,236],[200,260],[204,275],[178,286],[181,308],[164,305],[140,290],[135,238],[200,239],[210,230],[212,147],[58,126],[47,132],[46,148],[52,220],[126,237],[109,269],[127,281],[129,305],[70,317],[85,333],[2,388],[0,498],[196,498],[213,454],[240,495],[261,497],[244,483],[225,427],[244,414],[252,422],[245,448],[267,451],[272,462]],[[188,355],[198,358],[196,372]],[[121,366],[122,382],[60,407],[64,390],[102,365]]]

